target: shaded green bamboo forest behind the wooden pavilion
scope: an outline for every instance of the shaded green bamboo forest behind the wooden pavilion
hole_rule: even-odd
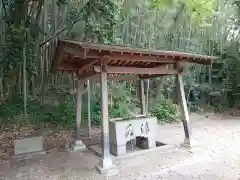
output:
[[[76,80],[50,73],[58,39],[213,55],[211,66],[189,65],[184,76],[191,111],[240,105],[238,0],[1,0],[0,125],[72,128]],[[138,112],[137,81],[109,83],[109,117]],[[147,110],[179,119],[174,77],[146,80]],[[99,83],[85,88],[92,123],[100,122]]]

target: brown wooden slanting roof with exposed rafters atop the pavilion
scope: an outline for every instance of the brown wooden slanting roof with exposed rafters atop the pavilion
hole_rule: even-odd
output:
[[[104,62],[109,74],[138,74],[143,78],[176,74],[172,65],[186,62],[211,64],[215,57],[198,54],[135,49],[130,47],[59,40],[52,72],[75,73],[87,78],[101,72]]]

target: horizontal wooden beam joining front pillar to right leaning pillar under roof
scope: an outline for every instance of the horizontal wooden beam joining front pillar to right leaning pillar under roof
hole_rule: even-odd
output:
[[[94,71],[97,73],[101,72],[100,66],[94,66]],[[135,68],[135,67],[124,67],[124,66],[106,66],[105,70],[107,73],[113,74],[155,74],[155,75],[174,75],[177,74],[175,69],[169,69],[167,67],[157,68]]]

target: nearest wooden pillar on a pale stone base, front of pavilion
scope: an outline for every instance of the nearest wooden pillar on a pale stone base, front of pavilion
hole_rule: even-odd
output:
[[[101,130],[102,157],[96,169],[101,174],[115,175],[118,170],[110,155],[107,73],[104,71],[104,67],[102,67],[101,72]]]

